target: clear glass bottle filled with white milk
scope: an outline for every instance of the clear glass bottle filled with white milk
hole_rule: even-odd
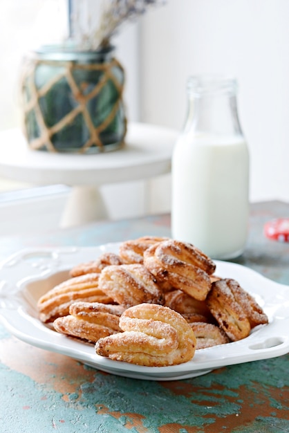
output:
[[[249,216],[249,154],[236,80],[190,77],[189,107],[172,156],[171,234],[214,259],[238,257]]]

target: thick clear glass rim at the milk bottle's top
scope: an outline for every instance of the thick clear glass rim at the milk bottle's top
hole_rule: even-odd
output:
[[[228,75],[192,75],[187,81],[190,94],[236,93],[238,88],[235,77]]]

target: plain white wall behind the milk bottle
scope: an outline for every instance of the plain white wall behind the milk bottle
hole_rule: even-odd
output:
[[[180,129],[189,75],[235,75],[252,201],[289,201],[288,17],[288,0],[168,0],[142,20],[141,119]],[[169,205],[169,179],[153,192]]]

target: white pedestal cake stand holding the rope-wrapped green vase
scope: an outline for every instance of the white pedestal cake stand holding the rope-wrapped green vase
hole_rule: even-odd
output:
[[[62,227],[108,217],[98,187],[167,174],[178,131],[129,123],[123,149],[101,154],[31,150],[19,129],[0,133],[0,176],[35,185],[68,185]]]

